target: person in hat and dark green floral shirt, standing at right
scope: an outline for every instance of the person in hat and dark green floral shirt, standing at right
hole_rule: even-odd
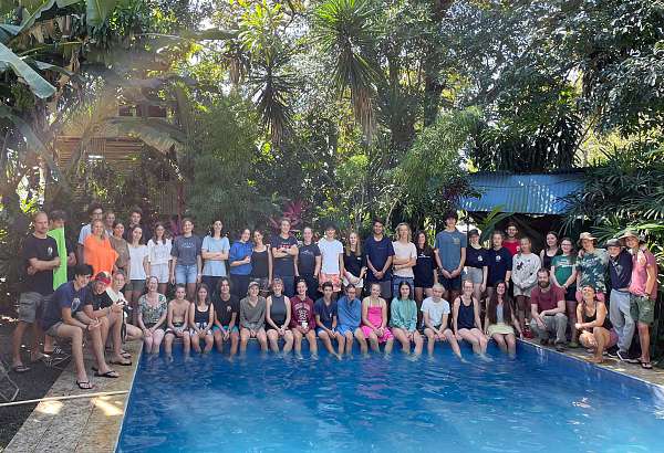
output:
[[[592,286],[596,292],[596,298],[604,302],[606,283],[604,275],[609,265],[609,254],[604,249],[596,247],[598,239],[588,232],[579,236],[579,257],[577,260],[577,303],[581,303],[583,286]]]

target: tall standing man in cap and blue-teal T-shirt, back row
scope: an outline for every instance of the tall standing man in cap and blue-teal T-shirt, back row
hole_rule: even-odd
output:
[[[438,282],[445,288],[444,297],[454,301],[461,291],[461,271],[466,263],[466,234],[457,230],[456,211],[445,215],[445,230],[436,234],[434,253],[438,264]]]

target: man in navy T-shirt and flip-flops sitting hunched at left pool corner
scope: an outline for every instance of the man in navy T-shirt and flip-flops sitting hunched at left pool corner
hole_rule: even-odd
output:
[[[83,302],[87,296],[87,283],[92,275],[92,266],[79,264],[74,267],[74,280],[63,283],[58,287],[53,297],[44,307],[40,325],[42,329],[52,337],[68,338],[72,341],[72,356],[76,373],[76,386],[83,390],[94,388],[85,372],[83,362],[83,339],[89,334],[92,343],[92,351],[96,360],[97,371],[95,377],[117,378],[116,371],[112,370],[104,359],[104,345],[102,343],[101,323],[84,314],[76,316],[82,309]]]

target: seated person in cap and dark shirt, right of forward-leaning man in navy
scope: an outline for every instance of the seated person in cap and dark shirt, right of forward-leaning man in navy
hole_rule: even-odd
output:
[[[106,292],[106,287],[111,284],[111,275],[106,272],[100,272],[95,275],[90,284],[87,297],[83,303],[83,313],[86,318],[98,319],[101,323],[100,330],[102,333],[102,344],[106,345],[108,335],[113,340],[113,356],[108,360],[111,365],[129,366],[128,355],[122,354],[122,309],[124,304],[115,303]]]

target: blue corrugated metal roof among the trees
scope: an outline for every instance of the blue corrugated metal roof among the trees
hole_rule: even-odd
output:
[[[466,197],[459,208],[466,211],[489,212],[501,206],[502,212],[525,214],[562,214],[564,197],[583,187],[583,172],[511,175],[478,172],[469,176],[470,186],[480,198]]]

